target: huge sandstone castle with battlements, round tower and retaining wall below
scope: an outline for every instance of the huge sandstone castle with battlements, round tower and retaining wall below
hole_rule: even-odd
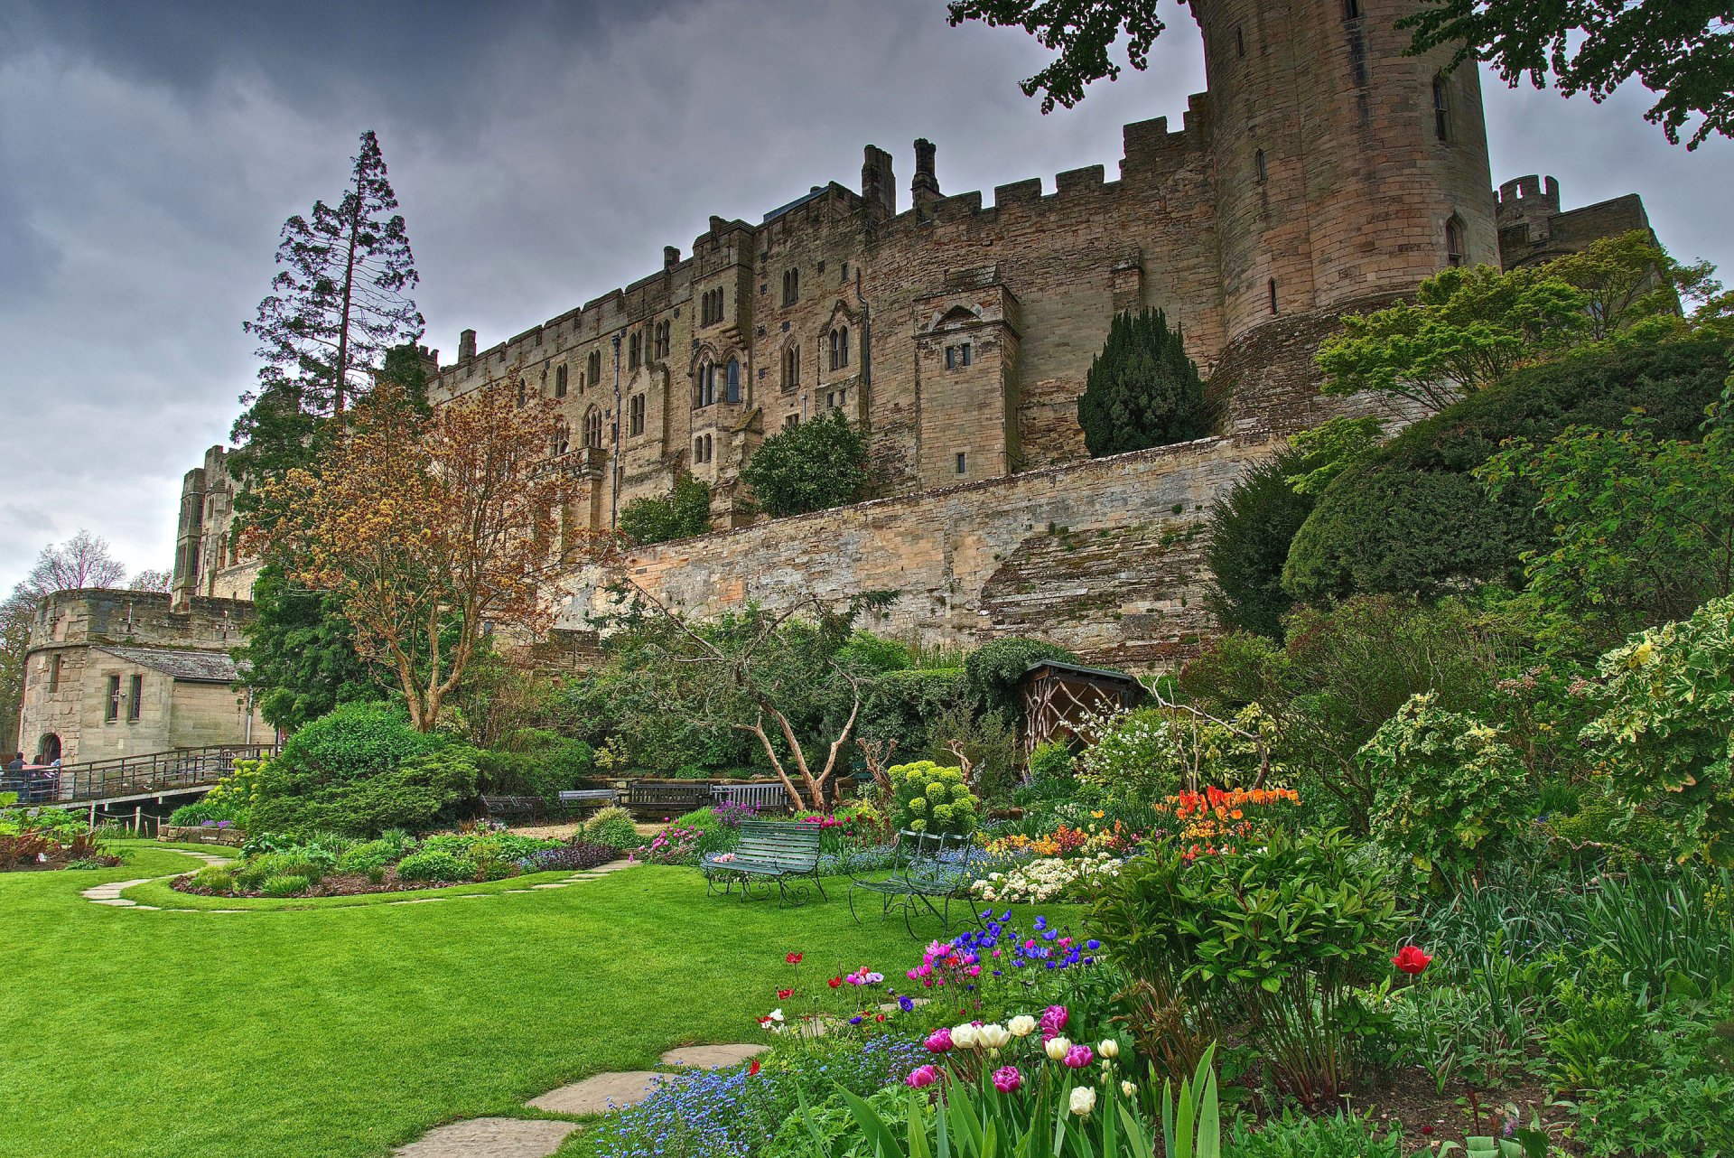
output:
[[[643,548],[635,574],[695,610],[893,588],[886,629],[1042,633],[1150,664],[1209,629],[1198,529],[1273,437],[1337,413],[1313,352],[1344,312],[1448,265],[1514,267],[1647,229],[1618,198],[1562,211],[1535,177],[1493,192],[1474,68],[1405,55],[1413,0],[1193,0],[1207,92],[1176,130],[1127,125],[1105,166],[945,194],[916,142],[909,203],[865,147],[860,189],[813,187],[758,224],[713,217],[687,257],[480,348],[465,329],[432,397],[508,373],[553,399],[551,447],[586,478],[567,518],[607,529],[680,472],[714,532]],[[1077,399],[1120,310],[1164,309],[1222,404],[1216,439],[1085,458]],[[742,465],[841,411],[879,494],[754,522]],[[184,487],[173,595],[246,598],[222,447]],[[881,582],[886,579],[886,582]],[[574,576],[567,626],[602,600]]]

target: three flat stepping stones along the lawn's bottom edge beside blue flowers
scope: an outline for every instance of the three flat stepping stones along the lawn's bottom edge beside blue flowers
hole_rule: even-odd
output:
[[[662,1054],[671,1070],[723,1070],[763,1054],[770,1045],[680,1045]],[[548,1090],[524,1106],[543,1113],[581,1118],[636,1106],[659,1085],[681,1082],[685,1075],[662,1070],[628,1070],[598,1073]],[[546,1118],[470,1118],[428,1130],[418,1141],[394,1151],[397,1158],[548,1158],[577,1130],[576,1122]]]

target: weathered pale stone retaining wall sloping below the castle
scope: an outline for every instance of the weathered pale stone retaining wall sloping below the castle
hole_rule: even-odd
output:
[[[633,582],[699,617],[806,595],[896,591],[876,634],[922,645],[1028,634],[1094,662],[1165,666],[1212,629],[1205,517],[1269,442],[1203,439],[860,503],[635,551]],[[562,626],[616,607],[579,576]]]

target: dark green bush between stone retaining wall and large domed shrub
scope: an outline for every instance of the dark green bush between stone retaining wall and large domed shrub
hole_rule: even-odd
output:
[[[1224,628],[1273,640],[1283,634],[1283,615],[1294,607],[1294,596],[1283,589],[1283,563],[1295,532],[1313,513],[1313,498],[1290,485],[1299,465],[1297,452],[1280,451],[1210,504],[1205,605]]]

